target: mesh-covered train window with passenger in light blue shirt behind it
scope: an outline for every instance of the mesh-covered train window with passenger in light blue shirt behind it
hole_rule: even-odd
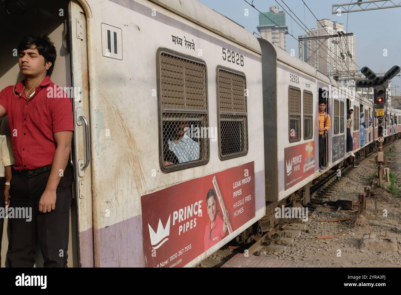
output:
[[[160,153],[165,172],[209,160],[206,65],[166,51],[158,54]]]

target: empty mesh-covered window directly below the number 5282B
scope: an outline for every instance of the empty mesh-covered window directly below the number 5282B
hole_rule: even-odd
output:
[[[217,69],[217,104],[220,159],[248,152],[246,79],[242,73]]]

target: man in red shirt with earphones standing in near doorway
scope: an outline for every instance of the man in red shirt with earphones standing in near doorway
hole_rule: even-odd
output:
[[[49,76],[57,52],[46,35],[24,37],[18,53],[24,80],[0,92],[0,117],[8,115],[15,159],[6,203],[31,210],[32,218],[9,219],[8,264],[33,267],[38,239],[44,266],[66,267],[73,181],[67,166],[74,130],[71,99],[54,93],[57,85]]]

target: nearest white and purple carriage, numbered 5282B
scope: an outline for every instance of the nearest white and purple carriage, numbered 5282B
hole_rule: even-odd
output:
[[[53,81],[79,89],[69,266],[190,267],[265,215],[251,33],[194,0],[64,1],[68,21],[46,23],[59,3],[20,2],[35,9],[1,20],[21,20],[4,50],[50,33]],[[3,87],[18,72],[4,64]]]

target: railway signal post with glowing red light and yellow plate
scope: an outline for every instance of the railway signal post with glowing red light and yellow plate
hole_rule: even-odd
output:
[[[386,87],[383,85],[385,81],[391,80],[395,75],[400,72],[400,67],[398,65],[393,66],[387,73],[382,77],[377,77],[375,73],[368,67],[363,67],[361,69],[361,73],[367,77],[367,79],[359,79],[355,81],[356,87],[364,87],[370,88],[373,87],[374,94],[374,107],[375,107],[375,118],[377,118],[377,133],[378,133],[378,141],[379,141],[379,153],[377,153],[377,178],[378,185],[381,187],[382,183],[382,170],[383,170],[383,162],[384,162],[384,153],[383,153],[383,129],[384,129],[384,109],[386,105]]]

